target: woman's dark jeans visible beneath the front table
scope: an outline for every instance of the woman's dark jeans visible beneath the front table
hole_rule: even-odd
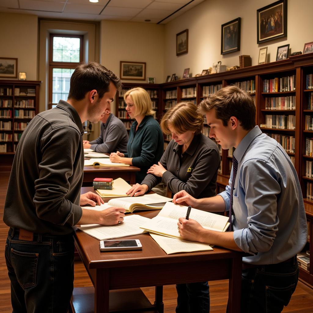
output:
[[[210,294],[208,282],[176,285],[176,313],[210,312]]]

